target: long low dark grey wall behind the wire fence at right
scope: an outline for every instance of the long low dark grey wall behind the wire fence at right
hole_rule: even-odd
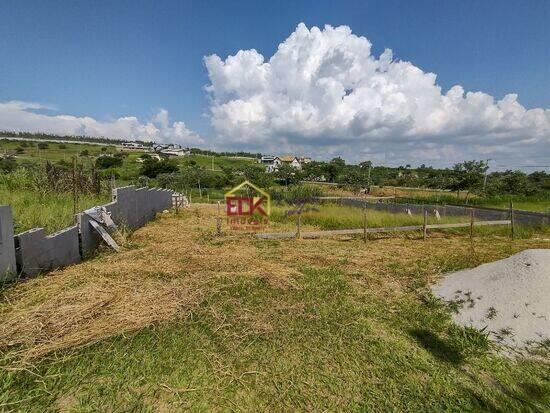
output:
[[[497,208],[464,207],[459,205],[436,205],[436,204],[396,204],[387,202],[365,202],[361,199],[341,198],[342,205],[363,207],[377,211],[386,211],[391,213],[405,213],[407,209],[413,214],[423,214],[425,210],[432,213],[434,210],[439,215],[444,216],[470,216],[470,211],[474,211],[477,220],[496,221],[510,219],[510,211]],[[539,212],[514,210],[514,222],[523,225],[548,225],[550,224],[550,215]]]

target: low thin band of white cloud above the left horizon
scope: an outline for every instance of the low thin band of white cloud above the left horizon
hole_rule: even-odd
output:
[[[184,122],[170,123],[165,109],[159,109],[156,115],[145,123],[140,122],[135,116],[99,121],[89,116],[50,115],[42,113],[44,109],[51,108],[32,102],[0,102],[0,130],[154,140],[186,146],[204,143],[204,140],[189,130]]]

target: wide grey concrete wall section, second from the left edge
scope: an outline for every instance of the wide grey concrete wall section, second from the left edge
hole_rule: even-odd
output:
[[[35,228],[15,236],[19,272],[32,276],[80,262],[78,227],[72,226],[51,235]]]

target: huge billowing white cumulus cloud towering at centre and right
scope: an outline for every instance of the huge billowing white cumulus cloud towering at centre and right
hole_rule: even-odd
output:
[[[443,91],[436,75],[347,26],[304,24],[266,61],[256,50],[204,58],[210,118],[222,144],[358,161],[450,164],[497,157],[540,163],[550,157],[550,110]]]

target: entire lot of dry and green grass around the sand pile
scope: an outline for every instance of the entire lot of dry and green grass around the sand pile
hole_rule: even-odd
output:
[[[547,411],[548,349],[504,356],[428,289],[447,271],[548,248],[546,235],[365,245],[214,232],[215,207],[196,205],[119,254],[5,289],[0,407]]]

